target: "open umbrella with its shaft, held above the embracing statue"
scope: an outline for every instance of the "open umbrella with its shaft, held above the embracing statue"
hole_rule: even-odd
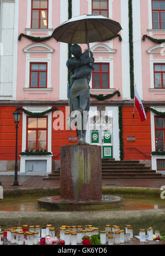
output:
[[[59,42],[86,43],[106,41],[121,30],[117,21],[102,15],[84,14],[69,19],[54,29],[52,37]]]

